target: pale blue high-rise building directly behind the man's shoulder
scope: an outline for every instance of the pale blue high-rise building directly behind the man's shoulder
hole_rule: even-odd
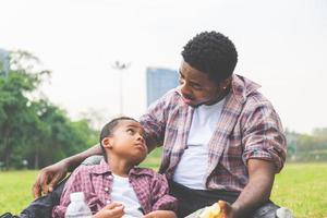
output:
[[[146,105],[147,107],[160,98],[169,89],[179,84],[179,74],[174,70],[164,68],[146,69]]]

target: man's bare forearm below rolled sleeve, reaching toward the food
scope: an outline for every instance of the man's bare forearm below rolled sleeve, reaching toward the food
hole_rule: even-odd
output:
[[[249,159],[247,168],[249,183],[239,198],[232,205],[223,204],[221,208],[226,218],[244,217],[269,199],[276,172],[274,162]]]

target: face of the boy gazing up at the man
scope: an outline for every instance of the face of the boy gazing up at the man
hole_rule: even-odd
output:
[[[110,153],[138,165],[145,159],[148,149],[144,129],[134,120],[121,120],[109,136]]]

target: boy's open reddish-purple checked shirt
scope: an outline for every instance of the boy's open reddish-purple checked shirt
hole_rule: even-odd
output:
[[[130,171],[129,179],[145,214],[158,209],[177,210],[177,199],[168,194],[165,175],[135,167]],[[78,167],[65,183],[60,205],[53,208],[52,217],[64,217],[73,192],[84,192],[85,202],[92,213],[96,214],[111,203],[112,181],[110,166],[104,159],[99,165]]]

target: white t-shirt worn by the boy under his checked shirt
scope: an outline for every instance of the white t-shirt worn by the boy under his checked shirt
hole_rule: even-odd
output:
[[[112,202],[119,202],[124,205],[123,218],[140,218],[143,217],[143,213],[140,208],[138,198],[129,182],[129,178],[123,178],[113,174],[113,182],[111,187]]]

